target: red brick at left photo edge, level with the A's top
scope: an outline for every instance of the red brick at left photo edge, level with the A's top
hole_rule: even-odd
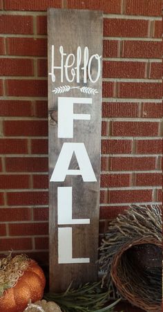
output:
[[[27,154],[27,143],[24,139],[0,138],[1,154]]]

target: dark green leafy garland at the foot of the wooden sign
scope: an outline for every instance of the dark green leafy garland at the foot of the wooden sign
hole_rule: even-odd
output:
[[[101,281],[87,283],[77,289],[70,285],[65,293],[47,293],[44,299],[56,302],[63,312],[113,312],[121,298],[106,306],[112,291],[102,288],[101,284]]]

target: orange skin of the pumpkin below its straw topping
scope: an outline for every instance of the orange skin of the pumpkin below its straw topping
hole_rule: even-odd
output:
[[[0,297],[0,312],[22,312],[29,300],[41,300],[46,278],[36,261],[30,260],[28,268],[19,277],[17,284],[8,288]]]

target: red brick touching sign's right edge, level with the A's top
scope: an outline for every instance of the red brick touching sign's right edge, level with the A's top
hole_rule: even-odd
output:
[[[102,140],[102,154],[131,154],[131,140]]]

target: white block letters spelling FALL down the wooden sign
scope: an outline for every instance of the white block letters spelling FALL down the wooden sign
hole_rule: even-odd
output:
[[[90,120],[90,114],[75,114],[75,104],[93,104],[91,98],[58,98],[58,138],[73,138],[74,120]],[[65,122],[66,120],[66,122]],[[69,169],[75,154],[79,169]],[[50,182],[64,182],[67,175],[82,176],[84,182],[97,182],[84,143],[64,143]],[[57,187],[58,263],[89,263],[89,258],[73,258],[73,224],[90,224],[90,219],[73,219],[73,187]],[[66,244],[65,244],[66,241]]]

